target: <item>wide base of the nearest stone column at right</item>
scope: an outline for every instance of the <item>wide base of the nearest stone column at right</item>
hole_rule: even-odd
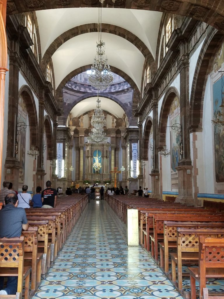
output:
[[[195,205],[193,197],[192,165],[177,166],[178,171],[178,197],[175,202],[185,205]]]

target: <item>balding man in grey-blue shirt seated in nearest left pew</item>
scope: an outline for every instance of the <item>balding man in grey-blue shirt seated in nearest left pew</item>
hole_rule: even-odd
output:
[[[0,210],[0,238],[20,237],[22,229],[27,231],[28,222],[25,210],[17,208],[18,197],[16,193],[9,193],[5,196],[5,207]],[[7,286],[3,289],[4,277],[0,277],[0,295],[16,295],[17,276],[9,276]]]

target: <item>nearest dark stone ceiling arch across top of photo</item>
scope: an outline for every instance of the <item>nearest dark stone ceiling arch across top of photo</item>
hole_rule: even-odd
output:
[[[117,3],[116,3],[117,2]],[[76,1],[26,1],[11,0],[7,1],[7,14],[23,13],[26,11],[65,8],[65,7],[100,7],[97,0],[76,0]],[[161,11],[167,13],[188,16],[205,23],[224,32],[224,0],[133,0],[118,1],[113,3],[111,0],[105,0],[104,6],[108,8],[128,8]]]

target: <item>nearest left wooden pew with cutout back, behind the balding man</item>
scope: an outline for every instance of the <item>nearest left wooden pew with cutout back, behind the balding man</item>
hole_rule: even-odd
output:
[[[29,299],[30,267],[24,267],[24,237],[0,239],[0,276],[18,276],[17,292],[22,297],[25,279],[25,299]],[[14,269],[12,269],[14,268]],[[6,297],[6,295],[4,295]],[[16,295],[7,295],[16,298]],[[2,298],[0,296],[0,298]]]

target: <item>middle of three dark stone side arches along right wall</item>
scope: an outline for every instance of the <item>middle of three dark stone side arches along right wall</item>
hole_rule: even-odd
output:
[[[178,90],[174,86],[171,86],[165,93],[165,96],[162,101],[162,107],[160,110],[159,124],[158,124],[158,133],[159,133],[158,147],[163,147],[166,145],[167,118],[174,97],[178,97],[178,99],[180,99]]]

